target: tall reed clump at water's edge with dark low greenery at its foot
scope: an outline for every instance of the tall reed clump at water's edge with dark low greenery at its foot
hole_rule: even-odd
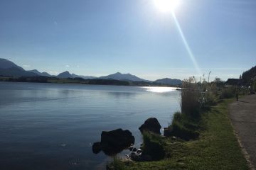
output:
[[[180,137],[183,140],[192,140],[198,137],[196,130],[199,127],[201,108],[205,103],[205,98],[194,77],[184,80],[182,87],[181,113],[174,113],[169,135]]]

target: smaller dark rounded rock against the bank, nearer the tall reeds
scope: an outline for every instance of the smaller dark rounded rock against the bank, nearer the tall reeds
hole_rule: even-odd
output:
[[[161,125],[159,124],[159,121],[156,118],[148,118],[141,127],[139,127],[139,130],[141,132],[143,131],[149,131],[154,132],[156,134],[160,133]]]

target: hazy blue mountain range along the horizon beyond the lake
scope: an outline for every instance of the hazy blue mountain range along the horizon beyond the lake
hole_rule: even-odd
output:
[[[123,80],[123,81],[144,81],[144,82],[154,82],[157,84],[168,84],[168,85],[179,85],[182,83],[180,79],[158,79],[156,81],[149,81],[146,79],[141,79],[132,74],[122,74],[120,72],[110,74],[104,77],[92,77],[92,76],[81,76],[77,74],[70,74],[70,72],[65,71],[57,76],[48,74],[47,72],[39,72],[37,69],[26,71],[22,67],[14,64],[6,59],[0,58],[0,77],[57,77],[60,79],[67,78],[82,78],[82,79],[114,79],[114,80]]]

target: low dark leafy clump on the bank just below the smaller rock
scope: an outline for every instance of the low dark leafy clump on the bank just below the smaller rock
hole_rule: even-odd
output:
[[[159,160],[164,158],[164,147],[161,143],[161,136],[150,132],[143,132],[143,154],[150,155],[152,159]]]

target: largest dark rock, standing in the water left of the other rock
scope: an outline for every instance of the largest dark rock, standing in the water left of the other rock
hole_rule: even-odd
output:
[[[127,149],[134,144],[134,136],[129,130],[112,130],[109,132],[102,131],[101,141],[95,142],[92,145],[92,152],[98,154],[100,151],[105,154],[112,156],[119,152],[122,152],[123,149]]]

